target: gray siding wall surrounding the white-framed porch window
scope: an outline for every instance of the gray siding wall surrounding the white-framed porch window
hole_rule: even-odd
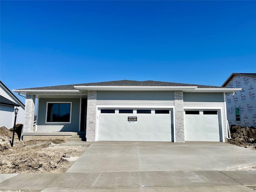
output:
[[[71,123],[45,123],[46,102],[72,102]],[[79,130],[80,99],[40,99],[38,106],[38,132],[74,131]]]

